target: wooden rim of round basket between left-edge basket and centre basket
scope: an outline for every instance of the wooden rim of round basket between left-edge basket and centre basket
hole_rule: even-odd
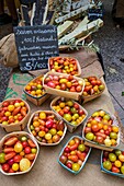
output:
[[[41,112],[45,112],[46,114],[54,114],[54,115],[56,116],[56,118],[57,118],[58,120],[60,120],[60,118],[58,117],[58,115],[55,114],[55,113],[52,112],[52,111],[37,111],[37,112],[33,113],[32,116],[31,116],[31,118],[30,118],[30,120],[29,120],[29,124],[27,124],[29,132],[30,132],[32,136],[33,136],[33,133],[32,133],[32,131],[31,131],[31,129],[30,129],[30,125],[32,124],[32,119],[33,119],[34,115],[35,115],[36,113],[41,113]],[[65,125],[65,124],[64,124],[64,125]],[[66,131],[67,131],[67,126],[65,125],[64,133],[63,133],[60,140],[59,140],[58,142],[56,142],[56,143],[44,143],[44,142],[41,142],[40,140],[37,140],[34,136],[33,136],[33,137],[35,138],[35,140],[36,140],[41,146],[57,146],[57,144],[59,144],[60,141],[64,139],[64,137],[65,137],[65,135],[66,135]]]

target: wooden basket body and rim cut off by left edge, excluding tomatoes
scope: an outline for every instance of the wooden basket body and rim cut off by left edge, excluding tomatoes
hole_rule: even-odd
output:
[[[26,107],[27,107],[27,114],[26,116],[19,123],[16,124],[10,124],[10,125],[2,125],[0,124],[0,126],[7,131],[7,132],[11,132],[11,131],[21,131],[21,130],[24,130],[24,128],[26,127],[27,125],[27,121],[29,121],[29,118],[30,118],[30,115],[31,115],[31,108],[29,106],[29,104],[22,100],[22,98],[8,98],[5,101],[14,101],[14,100],[21,100],[25,103]],[[4,101],[3,101],[4,102]],[[2,103],[3,103],[2,102]],[[2,103],[0,103],[0,107],[2,105]]]

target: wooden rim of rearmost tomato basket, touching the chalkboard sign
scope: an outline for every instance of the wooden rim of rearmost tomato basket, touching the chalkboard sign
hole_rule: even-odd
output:
[[[58,57],[52,57],[52,58],[49,58],[48,59],[48,70],[50,71],[52,69],[50,69],[50,66],[49,66],[49,61],[50,61],[50,59],[56,59],[56,58],[58,58]],[[77,62],[77,67],[78,67],[78,72],[77,72],[77,74],[75,74],[76,77],[80,77],[81,75],[81,67],[80,67],[80,65],[79,65],[79,61],[76,59],[76,58],[71,58],[71,57],[60,57],[60,58],[69,58],[69,59],[75,59],[76,60],[76,62]],[[55,70],[56,71],[56,70]],[[68,73],[69,74],[69,73]]]

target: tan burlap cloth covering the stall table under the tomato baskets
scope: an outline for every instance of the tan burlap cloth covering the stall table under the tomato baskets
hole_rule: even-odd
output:
[[[103,80],[104,73],[102,71],[101,65],[97,56],[94,57],[92,56],[88,58],[90,54],[87,53],[87,57],[82,60],[83,50],[72,53],[72,55],[71,54],[68,55],[69,56],[75,55],[75,57],[79,59],[79,62],[82,68],[82,77],[94,74]],[[31,72],[31,73],[22,74],[21,72],[13,71],[7,90],[5,98],[19,97],[19,96],[24,98],[25,97],[23,93],[24,85],[32,78],[34,78],[35,73],[37,75],[38,73],[42,73],[42,71]],[[29,102],[32,113],[37,109],[50,109],[49,104],[54,97],[55,96],[52,95],[41,106],[35,106]],[[95,98],[94,101],[86,103],[83,107],[88,111],[89,115],[99,108],[103,108],[108,112],[111,112],[112,114],[115,113],[110,94],[108,92],[108,88],[105,88],[105,91],[100,97]],[[29,186],[34,186],[34,185],[35,186],[76,186],[76,185],[77,186],[82,186],[82,185],[122,186],[123,185],[122,178],[111,176],[101,172],[100,170],[101,150],[92,149],[88,162],[86,163],[82,171],[76,176],[69,173],[68,171],[66,171],[64,167],[61,167],[58,164],[57,159],[59,152],[61,151],[61,148],[65,146],[67,140],[72,135],[81,136],[81,130],[82,130],[82,125],[79,126],[74,133],[67,131],[64,140],[56,147],[41,147],[36,163],[30,173],[25,175],[19,175],[19,176],[4,176],[0,174],[0,186],[4,186],[4,185],[5,186],[10,186],[10,185],[12,186],[16,186],[16,185],[18,186],[22,186],[22,185],[23,186],[27,186],[27,185]],[[2,138],[4,135],[5,132],[1,128],[0,138]]]

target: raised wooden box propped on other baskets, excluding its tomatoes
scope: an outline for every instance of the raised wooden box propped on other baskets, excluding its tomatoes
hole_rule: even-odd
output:
[[[67,91],[61,91],[61,90],[57,90],[57,89],[52,89],[52,88],[47,86],[46,84],[44,84],[44,80],[48,74],[64,75],[65,78],[69,77],[69,74],[66,74],[66,73],[58,73],[58,72],[52,72],[52,71],[47,72],[43,78],[43,86],[44,86],[44,89],[47,93],[64,96],[64,97],[69,97],[69,98],[77,100],[77,101],[79,101],[81,98],[82,92],[83,92],[83,89],[84,89],[83,79],[74,75],[75,79],[83,81],[81,92],[79,92],[79,93],[78,92],[67,92]]]

